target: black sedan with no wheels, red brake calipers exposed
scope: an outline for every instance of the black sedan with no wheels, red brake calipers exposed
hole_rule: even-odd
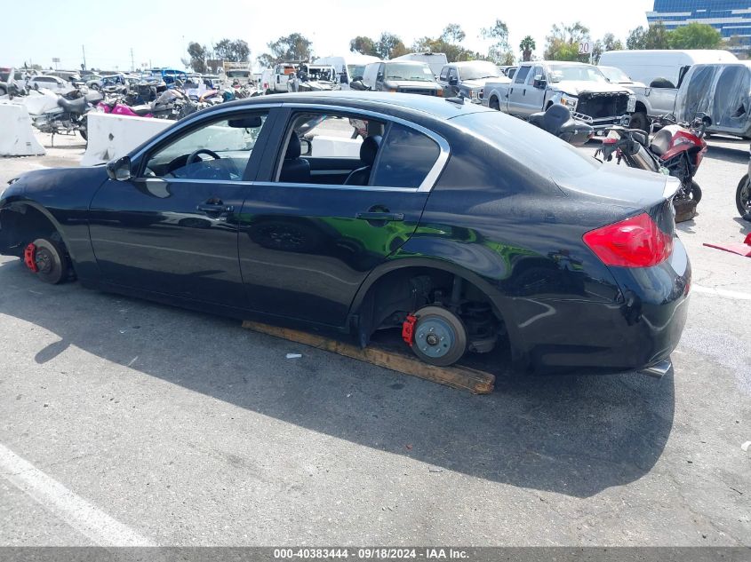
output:
[[[106,167],[0,196],[0,253],[58,283],[239,318],[401,329],[435,365],[660,374],[691,266],[665,176],[601,165],[460,100],[245,99]]]

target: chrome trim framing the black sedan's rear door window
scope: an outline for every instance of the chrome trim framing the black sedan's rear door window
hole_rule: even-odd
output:
[[[431,131],[429,129],[426,129],[422,125],[419,125],[417,123],[412,123],[411,121],[407,121],[406,119],[402,119],[401,117],[395,117],[394,115],[388,115],[385,113],[379,113],[378,111],[372,111],[371,109],[359,109],[357,107],[346,107],[346,106],[335,106],[335,105],[323,105],[323,104],[308,104],[308,103],[294,103],[294,102],[285,102],[283,104],[284,107],[292,107],[295,109],[311,109],[315,111],[336,111],[336,112],[342,112],[342,113],[354,113],[359,115],[367,115],[369,117],[373,117],[375,119],[378,119],[379,121],[386,121],[386,122],[392,122],[392,123],[399,123],[405,127],[409,127],[411,129],[414,129],[415,131],[419,131],[425,136],[427,136],[428,139],[432,139],[436,145],[438,145],[439,153],[438,158],[435,159],[435,162],[433,164],[433,167],[427,172],[427,176],[422,180],[422,183],[418,187],[387,187],[387,186],[359,186],[364,187],[366,189],[370,189],[372,191],[404,191],[404,192],[430,192],[433,187],[435,186],[435,183],[438,181],[438,178],[440,177],[441,173],[443,172],[443,169],[446,167],[446,163],[449,162],[449,156],[451,155],[451,146],[449,146],[449,143],[446,139],[443,139],[438,133],[435,131]],[[277,174],[278,176],[278,174]],[[308,184],[290,184],[290,183],[284,183],[284,182],[271,182],[277,186],[307,186]],[[311,184],[316,185],[316,184]],[[323,184],[318,184],[318,186],[323,187]],[[345,189],[353,189],[356,186],[337,186],[337,185],[325,185],[326,187],[331,188],[345,188]],[[359,191],[359,190],[358,190]]]

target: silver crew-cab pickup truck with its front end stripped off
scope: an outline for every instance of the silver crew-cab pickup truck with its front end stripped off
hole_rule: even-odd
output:
[[[624,123],[624,116],[634,113],[636,98],[593,65],[557,60],[525,62],[514,82],[489,81],[483,91],[483,105],[523,119],[555,103],[597,131]]]

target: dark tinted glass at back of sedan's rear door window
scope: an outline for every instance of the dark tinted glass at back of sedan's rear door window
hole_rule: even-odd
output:
[[[380,146],[371,185],[417,189],[440,153],[435,140],[400,123],[393,123]]]

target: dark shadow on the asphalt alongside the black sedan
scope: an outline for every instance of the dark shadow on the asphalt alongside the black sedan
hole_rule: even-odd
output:
[[[673,424],[672,376],[501,375],[492,395],[472,396],[238,321],[47,286],[18,260],[0,264],[0,287],[0,313],[60,337],[36,350],[37,363],[75,345],[311,431],[516,487],[587,497],[625,485],[651,470]],[[303,358],[285,360],[292,351]]]

